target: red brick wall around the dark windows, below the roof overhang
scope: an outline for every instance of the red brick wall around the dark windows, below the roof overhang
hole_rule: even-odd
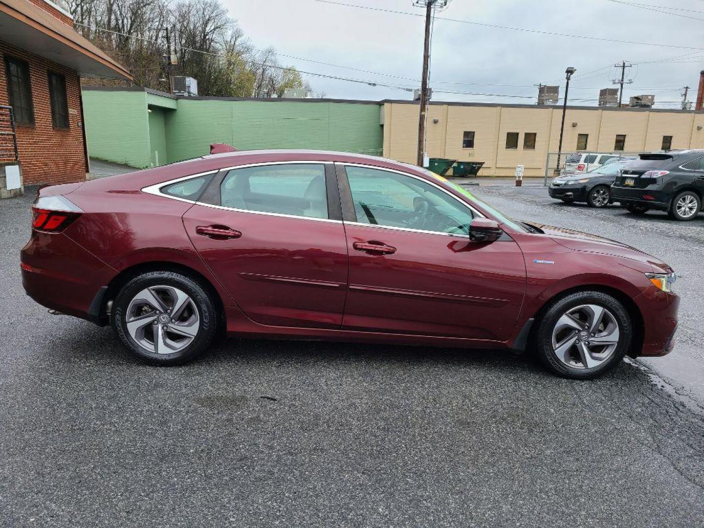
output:
[[[30,65],[34,125],[17,127],[17,142],[25,185],[58,184],[85,180],[80,80],[77,73],[0,41],[0,104],[8,104],[5,55]],[[68,129],[51,125],[49,71],[66,79]]]

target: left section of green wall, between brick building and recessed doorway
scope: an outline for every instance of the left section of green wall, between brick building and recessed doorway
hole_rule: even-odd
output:
[[[88,155],[132,167],[149,167],[146,92],[84,89]]]

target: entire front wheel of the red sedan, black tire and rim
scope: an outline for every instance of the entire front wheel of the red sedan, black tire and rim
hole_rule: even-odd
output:
[[[603,311],[595,321],[598,309]],[[617,299],[601,291],[578,291],[548,306],[534,343],[541,363],[553,374],[593,379],[621,363],[632,339],[631,318]]]

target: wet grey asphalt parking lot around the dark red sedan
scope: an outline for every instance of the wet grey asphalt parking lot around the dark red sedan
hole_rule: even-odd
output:
[[[32,196],[0,202],[0,524],[704,526],[704,217],[472,191],[670,262],[677,352],[592,382],[505,353],[320,341],[229,339],[149,367],[25,296]]]

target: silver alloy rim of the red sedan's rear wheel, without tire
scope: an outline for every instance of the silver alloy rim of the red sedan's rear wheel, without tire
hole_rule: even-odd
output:
[[[201,320],[196,304],[184,291],[151,286],[132,298],[125,325],[132,339],[146,351],[171,354],[191,344]]]

